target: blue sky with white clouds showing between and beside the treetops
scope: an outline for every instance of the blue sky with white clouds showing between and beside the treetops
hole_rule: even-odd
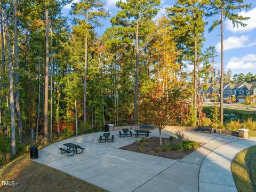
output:
[[[118,11],[116,7],[117,0],[102,0],[105,3],[105,9],[109,10],[110,17],[101,20],[103,27],[96,29],[98,35],[104,33],[106,28],[111,27],[110,18]],[[123,0],[124,1],[124,0]],[[73,3],[79,2],[74,0]],[[161,0],[161,9],[156,15],[157,19],[162,15],[165,15],[165,7],[170,7],[175,3],[175,0]],[[224,39],[224,68],[225,70],[231,69],[233,74],[239,73],[253,73],[256,74],[256,1],[244,0],[244,3],[252,4],[251,9],[238,11],[239,15],[244,17],[250,17],[245,21],[246,27],[234,28],[231,21],[226,20],[224,23],[223,39]],[[71,4],[66,5],[62,13],[68,15]],[[206,26],[204,49],[209,46],[215,46],[218,53],[216,59],[216,67],[220,68],[220,27],[216,27],[211,33],[208,33],[208,28],[213,21],[213,18],[206,19],[209,22],[209,26]],[[192,66],[188,66],[192,69]]]

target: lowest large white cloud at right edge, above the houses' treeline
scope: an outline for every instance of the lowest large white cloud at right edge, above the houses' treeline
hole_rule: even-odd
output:
[[[255,69],[256,54],[247,54],[242,58],[233,57],[229,60],[226,69]]]

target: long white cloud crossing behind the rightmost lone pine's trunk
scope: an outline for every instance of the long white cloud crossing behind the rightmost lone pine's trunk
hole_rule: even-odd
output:
[[[223,41],[223,46],[224,46],[224,51],[231,50],[231,49],[238,49],[241,47],[250,47],[253,45],[256,45],[256,42],[249,42],[249,36],[247,35],[242,35],[242,36],[231,36],[228,37]],[[220,42],[216,44],[216,50],[220,52]]]

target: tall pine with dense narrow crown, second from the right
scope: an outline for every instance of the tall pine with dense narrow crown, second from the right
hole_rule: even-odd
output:
[[[181,44],[183,52],[187,52],[187,57],[194,63],[194,116],[197,118],[197,66],[198,54],[204,41],[204,27],[206,23],[203,20],[205,1],[199,0],[178,0],[174,6],[167,8],[167,14],[174,26],[174,35],[177,42]],[[183,45],[183,46],[182,46]],[[185,48],[185,50],[184,50]],[[190,58],[191,53],[194,57]],[[195,122],[196,125],[196,122]]]

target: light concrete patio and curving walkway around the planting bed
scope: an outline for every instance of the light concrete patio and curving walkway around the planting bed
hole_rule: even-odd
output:
[[[163,137],[174,131],[164,131]],[[134,137],[119,138],[113,143],[99,143],[92,133],[60,141],[39,151],[36,162],[74,175],[108,191],[237,191],[230,164],[255,140],[242,140],[219,134],[185,132],[190,140],[205,145],[179,161],[119,149],[134,142]],[[158,136],[152,131],[151,136]],[[85,148],[79,155],[67,157],[59,149],[73,142]]]

